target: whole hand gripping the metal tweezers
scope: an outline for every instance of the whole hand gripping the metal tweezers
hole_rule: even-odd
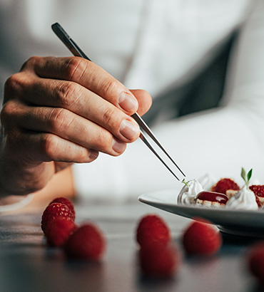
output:
[[[130,115],[151,106],[83,58],[32,57],[5,84],[0,194],[28,194],[73,162],[121,155],[138,138]]]

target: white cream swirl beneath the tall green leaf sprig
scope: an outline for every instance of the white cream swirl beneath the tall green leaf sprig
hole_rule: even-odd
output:
[[[255,194],[247,187],[243,187],[235,196],[231,197],[226,203],[226,207],[232,209],[258,209],[258,204],[255,202]]]

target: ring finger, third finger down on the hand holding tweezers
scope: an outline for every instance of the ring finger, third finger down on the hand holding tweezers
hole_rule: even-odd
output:
[[[2,125],[20,131],[45,132],[96,152],[120,155],[126,143],[113,137],[103,127],[75,115],[64,108],[32,107],[18,103],[6,103],[1,115]],[[9,130],[9,129],[7,129]]]

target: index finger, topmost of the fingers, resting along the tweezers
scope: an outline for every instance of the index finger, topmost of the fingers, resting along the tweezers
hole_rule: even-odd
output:
[[[63,79],[78,83],[128,115],[138,110],[138,101],[122,83],[86,59],[32,57],[24,64],[23,70],[33,70],[41,78]]]

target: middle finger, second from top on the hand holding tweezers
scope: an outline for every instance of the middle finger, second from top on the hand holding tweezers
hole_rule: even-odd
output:
[[[21,76],[16,76],[16,82],[23,83],[19,78]],[[28,104],[64,108],[86,118],[87,123],[100,125],[123,142],[133,142],[139,135],[139,127],[133,118],[77,83],[33,78],[26,84],[21,99]]]

